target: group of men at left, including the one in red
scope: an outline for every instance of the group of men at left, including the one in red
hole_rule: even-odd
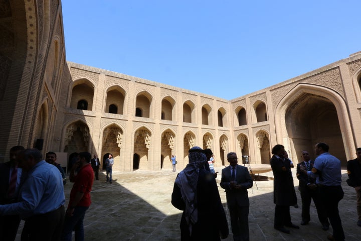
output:
[[[94,181],[91,154],[74,159],[69,180],[74,183],[65,209],[65,172],[48,152],[45,160],[38,149],[15,146],[10,161],[0,164],[0,240],[14,241],[21,219],[21,240],[84,240],[83,220],[91,204]],[[99,159],[98,166],[100,165]]]

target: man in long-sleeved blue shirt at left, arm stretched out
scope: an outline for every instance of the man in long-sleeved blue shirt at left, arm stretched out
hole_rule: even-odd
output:
[[[25,219],[22,240],[58,240],[62,231],[63,178],[42,157],[37,149],[26,149],[17,155],[19,167],[28,172],[28,178],[21,187],[18,202],[0,205],[0,215],[20,214]]]

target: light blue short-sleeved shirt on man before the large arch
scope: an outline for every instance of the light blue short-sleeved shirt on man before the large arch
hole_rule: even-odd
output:
[[[314,162],[314,168],[321,172],[319,184],[325,186],[341,185],[341,161],[328,152],[319,155]]]

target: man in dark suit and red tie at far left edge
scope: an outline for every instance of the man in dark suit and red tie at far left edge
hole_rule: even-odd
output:
[[[10,161],[0,164],[0,204],[18,201],[19,186],[24,179],[22,169],[18,168],[17,155],[25,150],[22,146],[10,149]],[[15,183],[11,183],[12,180]],[[20,223],[19,215],[0,216],[0,240],[15,240]]]

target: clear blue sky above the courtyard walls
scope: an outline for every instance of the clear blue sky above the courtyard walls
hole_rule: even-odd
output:
[[[359,0],[63,0],[68,61],[225,99],[361,51]]]

